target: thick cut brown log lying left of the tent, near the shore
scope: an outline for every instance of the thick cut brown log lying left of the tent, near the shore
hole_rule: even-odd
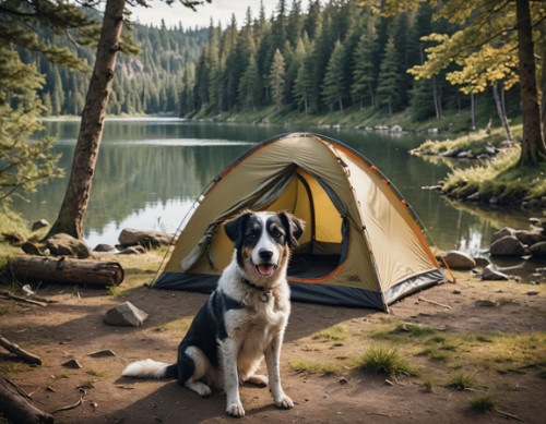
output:
[[[11,270],[17,280],[100,287],[119,286],[124,276],[123,268],[117,262],[31,255],[14,257]]]

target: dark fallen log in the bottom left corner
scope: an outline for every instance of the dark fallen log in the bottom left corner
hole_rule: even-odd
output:
[[[4,378],[0,378],[0,411],[11,422],[25,424],[52,423],[51,414],[28,402],[22,395],[10,389]]]

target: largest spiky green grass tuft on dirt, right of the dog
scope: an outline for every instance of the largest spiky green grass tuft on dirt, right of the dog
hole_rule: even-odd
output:
[[[411,366],[396,349],[384,344],[375,344],[368,348],[366,353],[355,361],[355,367],[389,375],[401,373],[419,375],[417,368]]]

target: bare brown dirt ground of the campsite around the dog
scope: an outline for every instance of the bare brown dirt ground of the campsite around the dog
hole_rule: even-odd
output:
[[[282,353],[282,379],[286,393],[295,401],[295,408],[278,410],[266,388],[244,386],[240,395],[246,416],[238,421],[506,422],[506,415],[478,413],[470,408],[471,398],[486,392],[498,399],[498,410],[527,423],[545,423],[545,364],[536,366],[536,360],[544,358],[546,351],[542,341],[533,348],[536,348],[536,358],[527,352],[530,366],[502,374],[495,366],[484,366],[484,361],[468,361],[472,356],[463,353],[448,362],[411,355],[408,361],[419,367],[420,377],[401,375],[391,378],[351,366],[351,359],[367,349],[372,331],[391,328],[396,323],[431,326],[444,335],[497,332],[515,337],[546,330],[544,284],[484,282],[468,272],[455,272],[455,277],[456,283],[440,284],[396,302],[389,315],[371,310],[293,303]],[[529,290],[536,290],[538,294],[531,295]],[[105,290],[61,286],[43,288],[38,295],[56,303],[39,307],[1,300],[0,329],[11,341],[39,354],[44,365],[28,367],[3,354],[0,356],[3,363],[0,371],[31,393],[38,408],[47,411],[73,404],[80,398],[78,387],[85,386],[82,404],[55,413],[56,422],[235,421],[224,413],[225,395],[221,391],[202,399],[173,380],[120,377],[123,367],[134,360],[176,361],[183,326],[179,328],[169,323],[189,323],[206,295],[149,290],[141,284],[117,296],[108,295]],[[419,301],[419,298],[449,307]],[[491,301],[491,306],[482,306],[480,300]],[[103,323],[105,313],[123,301],[130,301],[150,314],[142,327],[110,327]],[[349,335],[348,338],[342,342],[313,338],[318,331],[332,326],[341,326]],[[410,348],[405,344],[406,350]],[[102,349],[112,350],[116,356],[87,355]],[[477,348],[476,358],[487,354],[487,343]],[[491,352],[491,358],[495,359],[495,352]],[[82,368],[71,370],[61,365],[70,359],[78,360]],[[332,361],[341,364],[342,371],[332,374],[295,371],[290,363],[298,360]],[[441,381],[452,368],[475,374],[476,388],[453,390],[444,387]],[[262,371],[265,373],[263,366]],[[437,383],[427,389],[427,380]]]

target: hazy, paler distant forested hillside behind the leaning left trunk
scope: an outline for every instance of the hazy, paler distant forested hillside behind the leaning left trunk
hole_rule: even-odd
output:
[[[118,57],[107,113],[178,113],[182,75],[206,43],[207,31],[134,25],[132,36],[142,53]],[[43,37],[48,40],[55,38],[59,47],[78,50],[78,54],[93,66],[95,49],[69,45],[69,38],[51,32],[45,32]],[[45,75],[39,96],[50,113],[80,114],[91,73],[56,66],[43,54],[28,50],[22,49],[20,53],[26,63],[36,63],[38,71]]]

